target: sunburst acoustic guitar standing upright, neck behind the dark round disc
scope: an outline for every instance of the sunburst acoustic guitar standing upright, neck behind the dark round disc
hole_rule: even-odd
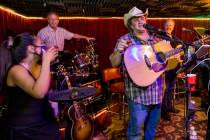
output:
[[[58,71],[62,73],[67,82],[68,89],[71,91],[72,98],[77,96],[77,88],[71,86],[68,73],[63,65],[58,66]],[[72,140],[90,140],[93,136],[94,125],[92,118],[86,114],[85,105],[82,102],[73,101],[67,112],[73,125],[71,128]]]

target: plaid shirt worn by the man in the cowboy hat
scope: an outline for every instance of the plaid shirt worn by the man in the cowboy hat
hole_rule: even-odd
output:
[[[122,36],[120,39],[131,41],[132,45],[152,45],[157,42],[157,38],[150,35],[147,42],[138,39],[136,36],[128,33]],[[119,39],[119,40],[120,40]],[[118,40],[118,42],[119,42]],[[118,43],[116,44],[117,47]],[[115,47],[115,49],[116,49]],[[125,81],[125,93],[129,100],[144,105],[160,104],[162,101],[163,92],[163,76],[160,76],[152,85],[147,87],[140,87],[136,85],[129,77],[124,61],[122,62],[122,71]]]

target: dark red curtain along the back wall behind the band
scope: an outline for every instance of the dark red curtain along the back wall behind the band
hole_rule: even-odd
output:
[[[165,19],[148,19],[148,23],[163,29]],[[183,32],[182,27],[193,29],[193,27],[210,28],[210,20],[203,19],[176,19],[175,34],[180,39],[192,42],[194,35],[189,32]],[[11,30],[14,34],[21,32],[30,32],[37,34],[37,32],[47,26],[46,19],[26,19],[13,13],[0,9],[0,41],[7,38],[7,31]],[[123,20],[120,18],[74,18],[61,19],[59,26],[65,29],[90,37],[96,38],[96,45],[94,46],[96,53],[99,55],[100,69],[111,67],[109,62],[109,55],[113,51],[117,39],[127,33]],[[65,42],[65,50],[79,52],[84,51],[88,43],[85,40],[70,40]]]

